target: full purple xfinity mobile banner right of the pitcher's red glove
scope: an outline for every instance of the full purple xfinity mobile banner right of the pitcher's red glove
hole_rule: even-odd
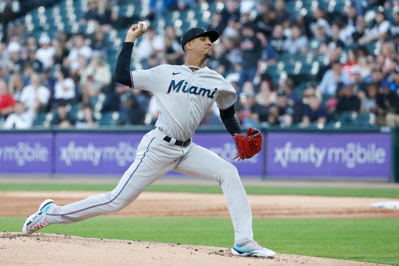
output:
[[[267,134],[268,177],[345,177],[388,180],[388,133]]]

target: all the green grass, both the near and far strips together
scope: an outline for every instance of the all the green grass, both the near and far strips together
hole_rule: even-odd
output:
[[[0,191],[109,191],[115,184],[0,184]],[[221,193],[216,186],[152,185],[147,191]],[[246,187],[248,194],[399,198],[399,189]],[[25,218],[0,218],[0,230],[20,232]],[[399,219],[254,219],[255,239],[278,253],[399,266]],[[233,230],[222,218],[97,217],[53,225],[43,233],[230,248]]]

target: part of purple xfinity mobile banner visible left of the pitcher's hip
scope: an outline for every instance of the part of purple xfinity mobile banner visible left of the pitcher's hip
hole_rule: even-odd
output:
[[[120,174],[134,161],[145,133],[57,132],[55,172]]]

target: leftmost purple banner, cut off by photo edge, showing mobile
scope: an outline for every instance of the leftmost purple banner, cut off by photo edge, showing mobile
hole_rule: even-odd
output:
[[[51,133],[1,133],[0,173],[46,173],[52,170]]]

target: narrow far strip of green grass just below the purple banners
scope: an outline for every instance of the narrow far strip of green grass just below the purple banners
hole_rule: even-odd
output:
[[[0,191],[110,191],[116,184],[0,184]],[[399,188],[255,187],[247,194],[399,198]],[[151,185],[146,191],[221,193],[218,186]]]

